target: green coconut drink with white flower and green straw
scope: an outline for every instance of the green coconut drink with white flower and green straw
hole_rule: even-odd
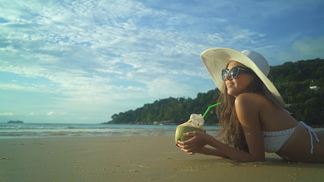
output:
[[[205,122],[204,117],[206,116],[210,108],[217,106],[219,104],[221,103],[217,103],[212,106],[209,106],[203,116],[201,116],[201,114],[191,114],[190,119],[187,122],[177,126],[176,137],[175,137],[176,144],[178,143],[178,141],[187,141],[193,138],[193,136],[184,136],[183,133],[192,132],[192,131],[206,132],[206,130],[202,127]]]

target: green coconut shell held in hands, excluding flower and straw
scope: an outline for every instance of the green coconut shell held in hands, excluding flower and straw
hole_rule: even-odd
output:
[[[193,138],[193,136],[184,136],[183,135],[183,133],[192,132],[192,131],[206,132],[206,130],[203,127],[198,126],[198,125],[196,125],[196,126],[192,125],[191,119],[189,119],[189,121],[177,126],[176,137],[175,137],[176,144],[178,143],[178,141],[187,141],[187,140]]]

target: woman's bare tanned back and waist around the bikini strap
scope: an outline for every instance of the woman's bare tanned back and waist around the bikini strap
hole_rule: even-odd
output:
[[[259,118],[262,131],[276,132],[296,128],[288,140],[276,151],[276,154],[284,159],[299,162],[324,162],[324,132],[317,132],[317,138],[321,143],[316,141],[312,133],[312,143],[309,130],[299,124],[286,110],[276,106],[269,101],[265,96],[259,94],[250,94],[250,99],[254,102],[261,102],[259,105]],[[271,136],[270,136],[271,137]],[[313,154],[311,148],[313,144]],[[265,145],[268,145],[265,143]]]

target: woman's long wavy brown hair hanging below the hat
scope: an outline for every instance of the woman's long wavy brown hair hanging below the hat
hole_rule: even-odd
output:
[[[255,73],[252,73],[252,76],[252,82],[247,89],[243,91],[243,93],[257,93],[264,95],[263,82]],[[227,94],[226,86],[223,86],[223,88],[224,90],[221,92],[218,99],[218,102],[222,102],[222,104],[218,105],[216,108],[216,113],[221,127],[219,135],[226,145],[249,152],[243,128],[237,118],[234,104],[235,97]]]

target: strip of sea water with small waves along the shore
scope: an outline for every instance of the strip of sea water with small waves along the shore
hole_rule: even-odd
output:
[[[177,125],[150,124],[62,124],[0,123],[1,138],[44,138],[59,136],[174,136]],[[204,126],[216,135],[219,126]]]

